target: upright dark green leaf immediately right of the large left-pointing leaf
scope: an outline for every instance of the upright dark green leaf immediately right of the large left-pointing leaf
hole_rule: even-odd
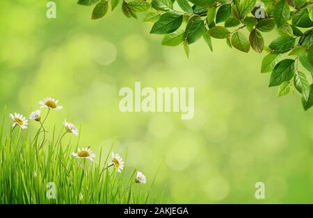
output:
[[[188,44],[192,44],[202,37],[205,30],[202,19],[191,19],[186,26],[186,38]]]

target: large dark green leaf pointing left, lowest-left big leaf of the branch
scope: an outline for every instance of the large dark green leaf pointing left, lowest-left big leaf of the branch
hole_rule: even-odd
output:
[[[182,25],[182,15],[166,12],[152,26],[150,33],[166,34],[175,32]]]

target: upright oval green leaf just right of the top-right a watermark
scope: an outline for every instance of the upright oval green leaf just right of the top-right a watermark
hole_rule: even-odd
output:
[[[280,0],[273,8],[273,18],[278,28],[282,27],[289,19],[289,5],[286,0]]]

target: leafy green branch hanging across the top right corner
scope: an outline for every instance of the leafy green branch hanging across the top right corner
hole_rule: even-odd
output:
[[[95,4],[91,18],[99,19],[106,15],[109,3],[114,10],[119,1],[78,3]],[[303,108],[313,106],[313,1],[122,0],[121,5],[126,17],[138,19],[138,13],[147,12],[143,22],[153,23],[150,33],[164,35],[161,44],[165,46],[182,45],[187,57],[189,45],[201,38],[213,51],[211,37],[225,40],[229,47],[239,51],[248,53],[252,48],[257,53],[266,53],[261,73],[271,72],[268,86],[279,86],[279,97],[295,88]],[[263,34],[274,30],[279,37],[266,46]],[[305,72],[300,72],[298,65]],[[311,74],[310,82],[307,74]]]

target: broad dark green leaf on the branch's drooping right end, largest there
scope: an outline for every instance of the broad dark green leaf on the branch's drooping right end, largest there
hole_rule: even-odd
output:
[[[271,74],[269,87],[282,84],[284,81],[290,81],[294,77],[294,60],[284,59],[275,65]]]

